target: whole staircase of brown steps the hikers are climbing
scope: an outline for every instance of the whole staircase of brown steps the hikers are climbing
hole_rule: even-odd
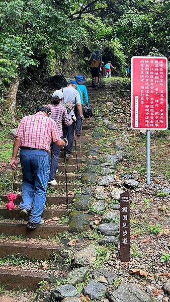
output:
[[[92,90],[90,83],[87,84],[89,103],[94,108],[96,100],[101,99],[101,93],[104,88],[104,84],[98,91]],[[81,159],[79,159],[79,143],[80,138],[76,139],[77,151],[78,151],[78,166],[79,169],[83,167],[83,162],[86,161],[86,154],[88,146],[92,143],[91,129],[94,125],[94,118],[83,121],[82,124],[82,146],[81,146]],[[67,161],[67,180],[68,180],[68,202],[71,204],[74,198],[74,191],[81,187],[81,174],[77,174],[75,151],[72,153],[73,159]],[[1,195],[0,198],[0,216],[3,219],[0,221],[0,235],[4,236],[4,240],[0,241],[0,257],[11,257],[12,255],[24,256],[29,259],[37,260],[49,260],[51,254],[59,254],[61,246],[51,244],[48,241],[50,238],[56,237],[65,231],[69,231],[68,225],[59,222],[65,215],[67,215],[66,209],[66,195],[65,195],[65,168],[64,168],[64,153],[61,152],[59,160],[59,169],[56,175],[57,185],[48,186],[49,194],[47,194],[46,207],[43,213],[45,219],[52,219],[58,217],[58,219],[52,223],[39,226],[35,230],[29,230],[26,228],[25,221],[19,217],[19,203],[21,201],[21,195],[18,194],[18,198],[15,201],[16,209],[7,211],[5,202],[7,202],[7,196]],[[70,173],[70,174],[69,174]],[[20,192],[22,187],[22,175],[16,177],[14,183],[14,190]],[[52,194],[54,190],[54,194]],[[48,191],[47,191],[48,193]],[[16,238],[15,238],[16,237]],[[19,241],[18,237],[22,240]],[[39,239],[39,244],[34,244],[34,240]],[[7,289],[13,289],[18,287],[25,288],[27,290],[35,290],[38,287],[38,283],[42,280],[49,281],[48,273],[34,270],[21,270],[15,266],[0,266],[0,283],[7,285]]]

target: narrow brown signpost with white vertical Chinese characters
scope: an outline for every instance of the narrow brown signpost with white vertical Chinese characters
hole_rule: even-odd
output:
[[[120,261],[130,261],[130,197],[129,190],[120,194]]]

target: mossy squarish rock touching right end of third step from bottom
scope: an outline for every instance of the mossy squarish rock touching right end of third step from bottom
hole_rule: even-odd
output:
[[[90,225],[90,218],[93,215],[80,213],[78,211],[72,211],[69,218],[69,232],[80,233],[82,231],[87,231]]]

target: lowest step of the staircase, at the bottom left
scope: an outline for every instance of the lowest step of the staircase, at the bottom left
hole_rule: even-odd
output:
[[[44,272],[33,272],[28,270],[0,269],[0,283],[7,285],[6,289],[36,290],[40,281],[49,281],[49,276]]]

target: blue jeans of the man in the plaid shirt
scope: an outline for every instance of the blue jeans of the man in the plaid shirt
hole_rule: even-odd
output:
[[[23,173],[20,209],[31,210],[29,221],[39,223],[46,201],[50,158],[43,150],[21,149],[20,162]]]

